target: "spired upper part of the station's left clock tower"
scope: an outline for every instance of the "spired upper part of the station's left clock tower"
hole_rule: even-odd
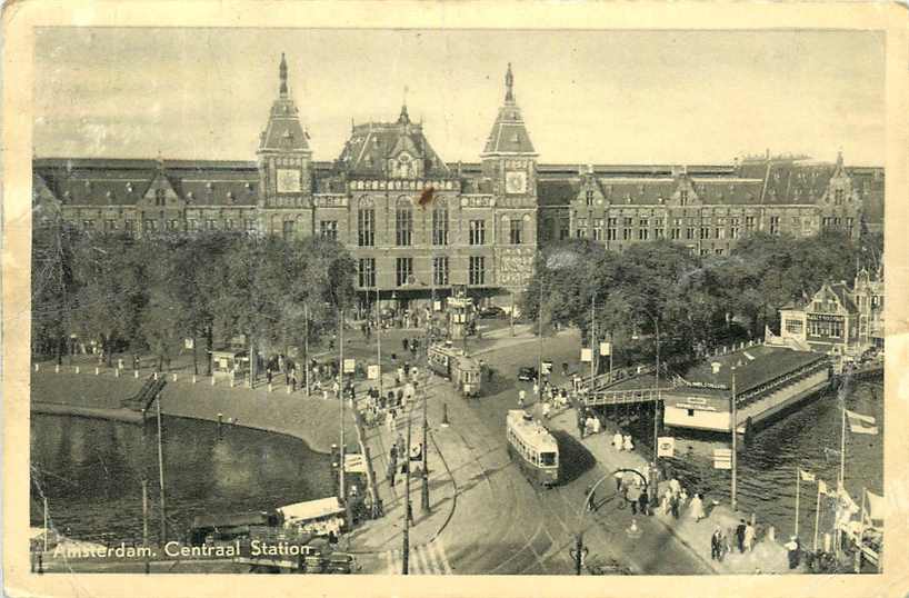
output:
[[[287,61],[281,54],[278,98],[271,106],[268,124],[260,134],[256,152],[259,166],[259,205],[261,207],[301,207],[312,195],[312,151],[309,136],[290,98]]]

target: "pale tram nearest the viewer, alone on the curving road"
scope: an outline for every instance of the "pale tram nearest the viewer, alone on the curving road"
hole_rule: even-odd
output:
[[[508,456],[518,461],[527,479],[541,486],[559,482],[559,445],[542,423],[522,409],[506,418]]]

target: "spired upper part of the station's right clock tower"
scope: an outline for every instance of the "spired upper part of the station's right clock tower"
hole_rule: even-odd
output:
[[[492,193],[515,207],[537,205],[537,156],[527,134],[521,109],[515,101],[515,76],[511,63],[505,76],[505,103],[492,124],[492,131],[480,155],[483,178],[492,185]]]

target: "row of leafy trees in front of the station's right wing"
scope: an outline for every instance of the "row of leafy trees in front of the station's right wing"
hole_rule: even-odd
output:
[[[778,329],[779,308],[805,300],[825,281],[851,285],[857,267],[877,266],[882,242],[880,235],[853,242],[835,232],[761,232],[739,241],[729,256],[697,257],[670,241],[618,253],[572,239],[538,255],[522,310],[538,318],[542,299],[545,322],[577,326],[585,338],[595,321],[597,338],[610,335],[621,361],[652,359],[656,343],[635,340],[659,328],[662,356],[687,359],[759,337],[765,326]]]

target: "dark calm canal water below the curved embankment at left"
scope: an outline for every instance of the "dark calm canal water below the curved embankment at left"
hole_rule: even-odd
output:
[[[330,457],[296,438],[242,427],[164,417],[168,539],[181,539],[193,516],[267,510],[331,496]],[[60,532],[93,541],[141,541],[143,474],[150,532],[160,534],[157,426],[32,415],[31,525],[42,497]]]

